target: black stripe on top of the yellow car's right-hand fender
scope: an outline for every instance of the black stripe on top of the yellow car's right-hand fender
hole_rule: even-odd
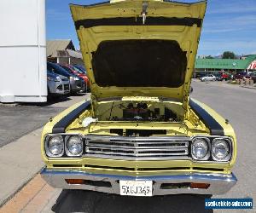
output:
[[[223,127],[218,124],[218,122],[212,118],[212,116],[200,107],[195,101],[189,100],[189,106],[195,112],[195,114],[201,118],[204,124],[206,124],[207,128],[210,130],[211,135],[224,135]]]

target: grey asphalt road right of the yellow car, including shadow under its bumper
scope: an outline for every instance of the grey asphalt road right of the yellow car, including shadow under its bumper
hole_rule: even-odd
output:
[[[238,183],[229,193],[212,198],[247,198],[256,200],[255,95],[256,89],[245,89],[227,83],[193,82],[192,97],[203,101],[228,118],[236,130],[238,154],[234,173]],[[213,212],[205,210],[208,196],[172,195],[132,198],[87,191],[63,190],[57,199],[49,199],[44,212]],[[227,210],[214,210],[227,212]],[[235,212],[234,210],[232,212]],[[241,211],[239,211],[241,212]]]

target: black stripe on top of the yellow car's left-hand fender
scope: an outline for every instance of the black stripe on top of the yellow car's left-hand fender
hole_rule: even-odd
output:
[[[79,117],[80,114],[84,112],[84,110],[90,107],[90,101],[84,102],[82,105],[74,109],[72,112],[69,112],[65,117],[63,117],[52,129],[52,133],[64,133],[67,126],[70,125],[73,120]]]

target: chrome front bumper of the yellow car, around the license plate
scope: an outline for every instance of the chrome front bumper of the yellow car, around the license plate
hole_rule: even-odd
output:
[[[180,193],[195,194],[224,194],[236,184],[236,176],[233,174],[188,174],[175,176],[114,176],[91,174],[81,171],[56,171],[44,169],[41,172],[44,180],[50,186],[63,189],[83,189],[102,193],[119,194],[119,180],[124,181],[153,181],[153,195],[167,195]],[[68,184],[67,179],[83,179],[84,184]],[[207,189],[202,188],[166,188],[168,183],[207,183],[210,186]]]

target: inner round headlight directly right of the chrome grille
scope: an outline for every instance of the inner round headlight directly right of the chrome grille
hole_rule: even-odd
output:
[[[207,138],[195,138],[192,141],[192,157],[200,160],[207,160],[210,157]]]

